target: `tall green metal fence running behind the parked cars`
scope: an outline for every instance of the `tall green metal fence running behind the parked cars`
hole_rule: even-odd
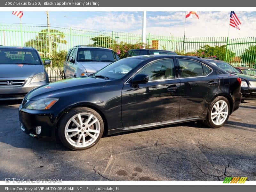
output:
[[[79,44],[111,48],[115,43],[135,44],[141,42],[141,39],[141,34],[116,31],[0,24],[1,45],[36,47],[43,59],[50,58],[53,50],[68,50]],[[235,66],[256,67],[256,37],[229,39],[228,37],[200,38],[148,34],[147,44],[155,49],[176,51],[178,54],[218,57]]]

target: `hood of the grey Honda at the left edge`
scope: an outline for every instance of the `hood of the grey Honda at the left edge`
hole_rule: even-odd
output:
[[[43,65],[0,64],[0,77],[33,77],[43,70]]]

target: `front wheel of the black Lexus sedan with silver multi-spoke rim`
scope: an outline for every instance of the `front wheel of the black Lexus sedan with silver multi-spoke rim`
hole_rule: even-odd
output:
[[[104,123],[95,110],[86,107],[73,108],[59,123],[61,142],[72,150],[84,150],[94,146],[101,138]]]

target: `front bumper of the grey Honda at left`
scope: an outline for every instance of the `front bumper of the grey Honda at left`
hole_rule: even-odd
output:
[[[30,83],[32,78],[28,78],[28,80],[24,83],[24,85],[20,87],[12,87],[12,86],[1,86],[0,87],[0,100],[18,100],[23,99],[25,95],[31,91],[32,89],[49,83],[46,79],[45,81],[40,81],[36,83]]]

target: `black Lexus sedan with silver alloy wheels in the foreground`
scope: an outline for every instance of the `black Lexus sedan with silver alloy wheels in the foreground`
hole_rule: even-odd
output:
[[[221,127],[241,101],[241,79],[205,60],[146,55],[118,60],[91,76],[46,84],[19,108],[21,130],[73,150],[108,135],[203,121]]]

